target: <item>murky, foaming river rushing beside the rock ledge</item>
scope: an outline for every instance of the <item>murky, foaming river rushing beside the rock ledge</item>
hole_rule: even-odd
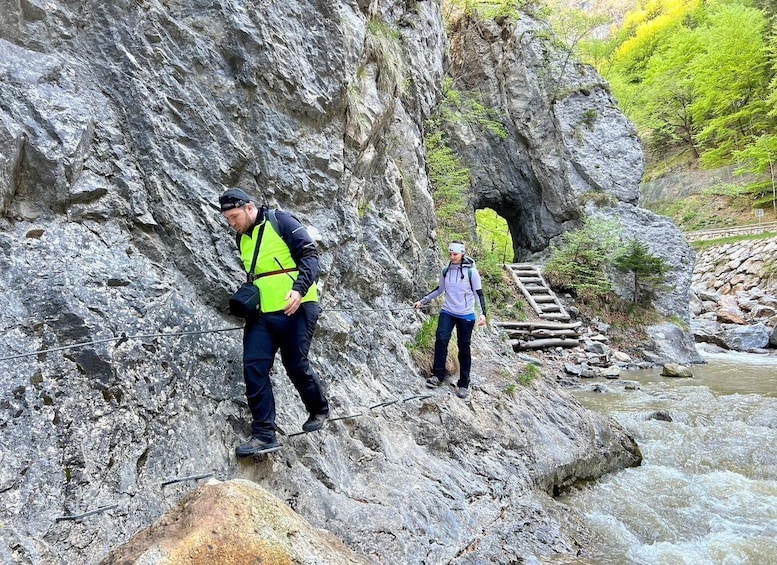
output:
[[[634,371],[602,381],[609,392],[575,393],[644,457],[561,500],[601,538],[575,562],[777,564],[777,357],[704,356],[690,379]],[[650,419],[657,411],[672,421]]]

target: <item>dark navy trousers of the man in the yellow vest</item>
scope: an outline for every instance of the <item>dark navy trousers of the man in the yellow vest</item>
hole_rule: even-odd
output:
[[[243,333],[243,378],[246,399],[251,409],[254,437],[275,438],[275,397],[270,382],[275,354],[281,361],[294,388],[310,414],[329,412],[321,381],[310,368],[308,351],[318,321],[317,302],[303,302],[292,316],[283,312],[261,314],[246,320]]]

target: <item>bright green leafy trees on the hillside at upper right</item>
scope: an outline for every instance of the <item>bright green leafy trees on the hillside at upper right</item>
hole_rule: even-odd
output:
[[[610,82],[654,168],[678,154],[705,168],[733,165],[756,175],[741,189],[755,207],[777,208],[777,3],[635,4],[622,15],[557,6],[550,19]]]

